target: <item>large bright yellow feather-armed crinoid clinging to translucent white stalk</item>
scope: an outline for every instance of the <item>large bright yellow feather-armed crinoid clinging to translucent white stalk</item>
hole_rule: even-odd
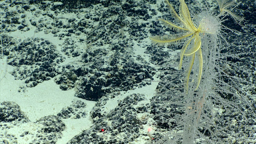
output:
[[[187,5],[185,4],[184,0],[180,0],[180,7],[179,7],[179,14],[175,12],[172,4],[165,0],[165,3],[168,5],[168,8],[171,11],[172,17],[175,20],[175,23],[159,19],[166,25],[168,28],[172,29],[173,31],[177,32],[178,34],[172,35],[165,35],[165,36],[153,36],[150,37],[153,43],[157,45],[175,45],[175,44],[183,44],[180,52],[180,64],[179,70],[182,66],[182,60],[184,56],[189,56],[191,58],[186,76],[185,76],[185,92],[188,92],[188,82],[189,76],[191,73],[192,66],[194,64],[195,57],[199,60],[199,70],[197,74],[197,80],[195,83],[195,90],[198,89],[202,71],[203,71],[203,57],[201,51],[201,36],[200,33],[210,33],[208,29],[205,29],[204,26],[202,27],[201,24],[196,26],[193,20],[190,17],[190,13],[188,10]]]

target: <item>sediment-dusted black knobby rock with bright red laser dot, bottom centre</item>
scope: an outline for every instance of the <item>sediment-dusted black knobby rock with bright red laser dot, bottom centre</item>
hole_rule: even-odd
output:
[[[111,110],[107,115],[94,115],[93,126],[91,129],[84,131],[71,139],[68,144],[89,144],[93,143],[107,143],[107,144],[127,144],[136,138],[142,136],[139,129],[140,125],[144,123],[143,120],[138,119],[138,115],[148,112],[149,106],[137,107],[137,104],[145,100],[145,96],[140,94],[129,95],[124,100],[118,103],[118,106]],[[99,102],[96,105],[101,105]],[[95,107],[95,110],[100,113],[102,107]],[[97,118],[98,119],[97,119]],[[111,139],[105,139],[105,136],[111,136]]]

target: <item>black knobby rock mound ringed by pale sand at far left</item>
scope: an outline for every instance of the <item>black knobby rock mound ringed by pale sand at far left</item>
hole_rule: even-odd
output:
[[[8,35],[2,35],[4,54],[8,55],[8,64],[16,66],[12,72],[16,78],[25,80],[28,87],[49,80],[59,74],[58,64],[63,57],[56,53],[56,47],[49,41],[39,38],[26,39],[17,44]]]

